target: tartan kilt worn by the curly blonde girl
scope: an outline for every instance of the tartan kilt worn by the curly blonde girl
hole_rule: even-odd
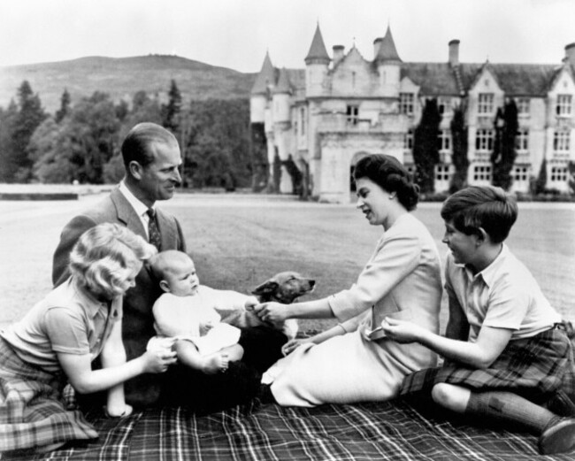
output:
[[[96,439],[80,411],[66,411],[63,375],[22,361],[0,337],[0,452]]]

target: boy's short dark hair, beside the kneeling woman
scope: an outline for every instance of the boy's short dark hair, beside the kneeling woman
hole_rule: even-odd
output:
[[[448,197],[441,218],[467,235],[478,234],[481,227],[492,242],[499,243],[517,220],[517,202],[502,188],[470,186]]]

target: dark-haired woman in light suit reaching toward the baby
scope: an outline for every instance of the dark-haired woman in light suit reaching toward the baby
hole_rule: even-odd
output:
[[[356,284],[334,296],[307,303],[263,303],[261,319],[335,317],[336,327],[306,340],[288,342],[265,373],[281,405],[383,401],[397,395],[403,377],[436,364],[418,344],[388,341],[386,317],[410,319],[434,333],[439,329],[441,266],[433,237],[410,211],[418,186],[393,157],[372,155],[356,166],[357,208],[384,234]]]

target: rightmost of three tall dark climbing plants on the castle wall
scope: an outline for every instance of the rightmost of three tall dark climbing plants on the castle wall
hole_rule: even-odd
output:
[[[511,169],[517,158],[515,138],[519,122],[517,119],[517,105],[513,99],[505,104],[503,110],[497,109],[495,115],[495,143],[491,154],[493,165],[494,186],[509,190],[513,183]]]

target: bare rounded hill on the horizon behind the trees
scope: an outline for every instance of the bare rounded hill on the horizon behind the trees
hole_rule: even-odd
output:
[[[207,65],[188,58],[149,55],[134,58],[78,58],[70,61],[0,67],[0,107],[16,97],[22,81],[30,82],[42,106],[58,110],[64,88],[77,101],[95,91],[108,93],[115,101],[132,101],[136,91],[144,90],[162,100],[170,81],[176,81],[187,103],[210,97],[230,99],[248,97],[256,74],[241,73],[226,67]]]

